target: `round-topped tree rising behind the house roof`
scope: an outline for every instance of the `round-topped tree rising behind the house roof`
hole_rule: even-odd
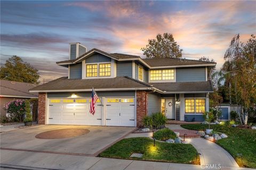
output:
[[[171,33],[158,34],[156,39],[149,39],[148,45],[141,48],[147,58],[181,58],[182,49],[174,41]]]

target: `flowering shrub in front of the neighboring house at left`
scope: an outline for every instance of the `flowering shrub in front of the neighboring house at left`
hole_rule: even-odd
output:
[[[4,105],[4,110],[10,114],[12,121],[22,122],[25,116],[25,100],[16,99]]]

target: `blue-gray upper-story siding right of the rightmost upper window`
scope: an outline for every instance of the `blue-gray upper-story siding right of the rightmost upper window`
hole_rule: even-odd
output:
[[[197,68],[177,68],[176,69],[177,82],[189,81],[205,81],[205,67]]]

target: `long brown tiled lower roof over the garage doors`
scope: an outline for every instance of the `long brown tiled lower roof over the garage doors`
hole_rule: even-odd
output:
[[[108,79],[68,79],[68,77],[62,77],[30,89],[30,91],[91,91],[92,87],[98,91],[151,89],[149,84],[129,77],[116,77]]]

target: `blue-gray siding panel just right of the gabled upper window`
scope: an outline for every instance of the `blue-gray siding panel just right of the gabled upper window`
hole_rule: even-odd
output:
[[[132,62],[116,62],[116,76],[132,78]]]

